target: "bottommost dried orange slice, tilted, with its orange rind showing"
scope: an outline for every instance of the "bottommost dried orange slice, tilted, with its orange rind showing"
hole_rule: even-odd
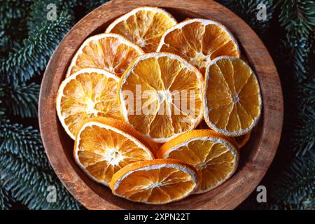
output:
[[[113,175],[114,195],[134,202],[166,204],[188,197],[197,189],[196,170],[177,160],[134,162]]]

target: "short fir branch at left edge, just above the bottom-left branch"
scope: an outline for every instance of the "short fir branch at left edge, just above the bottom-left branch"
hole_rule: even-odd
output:
[[[0,153],[11,153],[31,165],[51,170],[38,130],[11,124],[6,119],[1,119],[0,124]]]

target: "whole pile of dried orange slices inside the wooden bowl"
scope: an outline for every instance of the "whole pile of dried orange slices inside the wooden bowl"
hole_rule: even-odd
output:
[[[80,169],[146,204],[220,186],[262,111],[258,79],[239,57],[225,26],[177,24],[156,7],[135,8],[87,38],[56,103]]]

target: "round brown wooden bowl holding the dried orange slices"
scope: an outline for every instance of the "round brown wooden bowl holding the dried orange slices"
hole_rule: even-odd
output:
[[[147,205],[112,195],[111,190],[89,179],[73,160],[73,141],[59,123],[55,99],[71,58],[83,41],[104,32],[118,16],[139,6],[165,8],[181,22],[186,18],[209,18],[221,22],[235,34],[241,52],[258,76],[263,113],[251,140],[241,148],[237,172],[218,188],[190,195],[179,202]],[[87,209],[235,209],[258,186],[274,158],[283,118],[281,85],[274,62],[255,32],[237,15],[214,1],[116,0],[100,6],[78,22],[59,44],[43,76],[39,98],[39,124],[50,163],[64,186]]]

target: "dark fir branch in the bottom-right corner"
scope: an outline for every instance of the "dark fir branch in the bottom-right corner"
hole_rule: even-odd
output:
[[[315,193],[315,151],[295,158],[286,172],[274,184],[272,196],[290,209],[315,209],[309,199]],[[314,202],[314,198],[312,199]]]

